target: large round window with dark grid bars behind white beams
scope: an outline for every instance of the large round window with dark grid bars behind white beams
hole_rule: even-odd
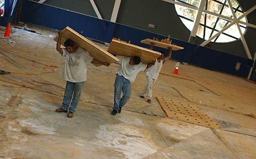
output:
[[[180,2],[183,4],[187,4],[191,6],[191,8],[198,8],[200,5],[200,0],[175,0],[176,2]],[[236,18],[239,18],[244,12],[243,9],[239,6],[236,0],[231,0],[232,7],[234,9],[234,13],[236,14]],[[181,21],[186,25],[189,30],[192,30],[194,26],[194,20],[196,18],[197,10],[187,8],[184,6],[180,6],[175,4],[175,9],[177,14],[179,14]],[[206,5],[204,10],[208,10],[210,12],[224,15],[225,17],[233,18],[231,8],[228,6],[227,0],[206,0]],[[241,19],[242,22],[247,22],[246,17]],[[231,23],[231,20],[223,19],[217,17],[216,15],[202,13],[200,24],[197,30],[197,36],[204,40],[208,40],[213,35],[218,33],[218,31],[222,30],[228,24]],[[242,34],[245,33],[246,25],[239,24]],[[225,30],[222,34],[213,39],[213,42],[216,43],[227,43],[230,41],[238,40],[241,38],[239,30],[236,24],[233,24],[227,30]]]

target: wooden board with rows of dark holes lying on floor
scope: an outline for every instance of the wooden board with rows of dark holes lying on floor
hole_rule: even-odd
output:
[[[187,123],[207,128],[221,129],[212,118],[207,116],[198,107],[187,102],[156,97],[168,118],[185,121]]]

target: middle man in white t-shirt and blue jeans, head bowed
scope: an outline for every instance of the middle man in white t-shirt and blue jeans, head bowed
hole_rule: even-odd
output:
[[[135,81],[135,78],[139,71],[144,71],[146,68],[154,65],[152,63],[142,63],[140,62],[140,57],[132,56],[116,56],[119,59],[119,68],[116,73],[117,77],[114,81],[114,107],[111,115],[116,115],[117,112],[121,113],[122,107],[126,104],[130,98],[131,84]],[[121,93],[123,91],[123,97],[121,98]]]

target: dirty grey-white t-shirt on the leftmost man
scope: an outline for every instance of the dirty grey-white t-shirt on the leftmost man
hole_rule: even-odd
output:
[[[71,54],[66,49],[62,50],[63,54],[60,54],[60,56],[66,57],[62,78],[69,82],[86,81],[87,63],[90,63],[93,57],[88,51],[82,49],[81,47],[77,48],[77,50]]]

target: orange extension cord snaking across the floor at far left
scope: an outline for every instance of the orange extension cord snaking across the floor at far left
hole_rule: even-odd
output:
[[[0,50],[6,52],[6,53],[8,53],[8,54],[12,54],[12,55],[14,55],[14,56],[17,56],[17,57],[20,57],[20,58],[22,58],[22,59],[25,59],[25,60],[27,60],[27,61],[33,62],[32,66],[35,67],[35,68],[40,68],[40,67],[36,67],[36,66],[35,66],[35,63],[37,63],[37,64],[39,64],[39,65],[46,66],[46,67],[43,67],[44,70],[45,70],[45,69],[50,69],[50,70],[52,70],[51,72],[42,72],[42,73],[19,73],[19,72],[11,72],[11,74],[18,74],[18,75],[42,75],[42,74],[45,74],[45,73],[54,73],[54,72],[55,72],[55,70],[54,70],[53,68],[49,68],[49,67],[59,68],[58,66],[45,65],[44,63],[40,63],[40,62],[36,62],[35,60],[27,59],[27,58],[22,57],[22,56],[20,56],[20,55],[17,55],[17,54],[14,54],[14,53],[12,53],[12,52],[9,52],[9,51],[7,51],[7,50],[5,50],[5,49],[3,49],[3,48],[0,48]],[[9,82],[8,82],[8,83],[9,83]],[[3,86],[3,87],[11,87],[11,88],[36,88],[36,87],[45,86],[45,84],[38,85],[38,86],[32,86],[32,87],[26,87],[26,86],[24,86],[24,87],[14,87],[14,86],[6,86],[6,85],[3,85],[3,84],[0,84],[0,86]]]

